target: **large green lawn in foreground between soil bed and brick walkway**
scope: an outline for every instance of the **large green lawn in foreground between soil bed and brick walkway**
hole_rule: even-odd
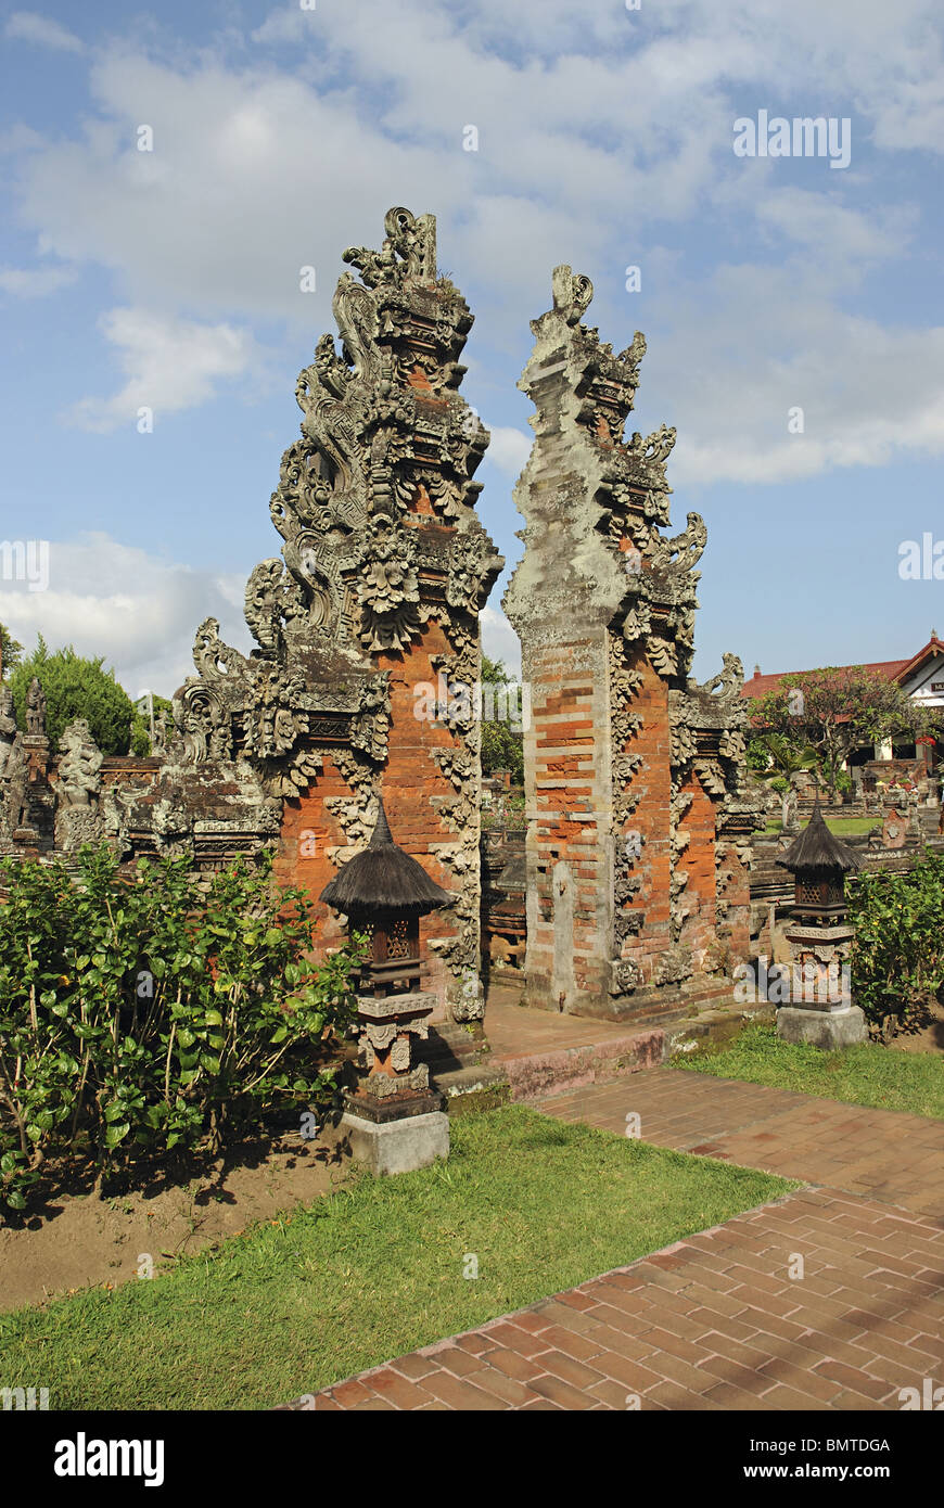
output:
[[[522,1105],[451,1131],[448,1163],[354,1175],[163,1277],[0,1315],[3,1384],[51,1408],[265,1408],[796,1187]]]

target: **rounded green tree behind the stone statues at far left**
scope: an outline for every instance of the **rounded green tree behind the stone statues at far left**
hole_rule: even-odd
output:
[[[33,676],[45,695],[45,730],[56,751],[62,731],[75,718],[86,718],[92,737],[103,754],[127,754],[134,706],[127,691],[115,680],[115,671],[103,668],[103,657],[83,659],[69,644],[50,653],[42,635],[27,659],[21,659],[11,677],[14,707],[21,728],[26,727],[26,694]]]

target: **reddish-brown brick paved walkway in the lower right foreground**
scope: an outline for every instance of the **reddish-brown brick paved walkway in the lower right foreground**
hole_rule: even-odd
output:
[[[944,1384],[944,1123],[677,1069],[541,1108],[820,1187],[288,1407],[860,1410]]]

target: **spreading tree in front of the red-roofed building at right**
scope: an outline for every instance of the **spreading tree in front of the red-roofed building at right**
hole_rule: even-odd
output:
[[[863,743],[896,733],[917,737],[935,725],[935,716],[902,688],[866,670],[835,667],[783,676],[777,691],[751,703],[757,736],[780,734],[816,749],[831,795],[835,795],[844,760]]]

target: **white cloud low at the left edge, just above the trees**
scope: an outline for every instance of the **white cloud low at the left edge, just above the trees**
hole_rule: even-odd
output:
[[[0,590],[0,621],[27,650],[42,633],[50,648],[72,644],[87,657],[104,656],[131,697],[145,689],[170,695],[195,674],[193,636],[204,618],[217,618],[223,638],[249,650],[244,588],[244,576],[195,572],[107,534],[84,534],[50,541],[47,591]]]

